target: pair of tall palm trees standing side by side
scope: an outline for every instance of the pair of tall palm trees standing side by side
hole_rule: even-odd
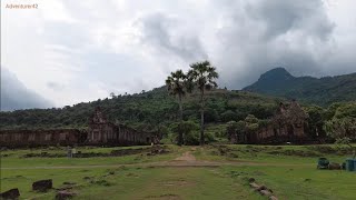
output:
[[[184,73],[181,70],[171,72],[166,80],[168,91],[171,96],[178,97],[179,104],[179,126],[178,126],[178,144],[184,143],[184,118],[182,118],[182,97],[197,90],[199,92],[200,104],[200,139],[199,143],[205,143],[204,137],[204,113],[205,113],[205,93],[207,90],[217,88],[216,79],[219,77],[216,68],[209,61],[196,62],[190,64],[190,70]]]

